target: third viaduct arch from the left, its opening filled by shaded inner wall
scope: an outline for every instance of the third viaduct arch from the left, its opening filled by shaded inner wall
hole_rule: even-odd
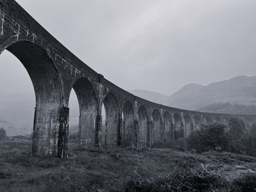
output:
[[[104,99],[105,126],[102,126],[102,145],[120,145],[119,105],[116,96],[108,93]]]

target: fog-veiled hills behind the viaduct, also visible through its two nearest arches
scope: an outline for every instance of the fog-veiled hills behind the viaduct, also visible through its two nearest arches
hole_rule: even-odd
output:
[[[204,112],[256,114],[256,77],[238,76],[209,85],[187,84],[171,96],[145,90],[129,91],[143,99],[187,110]],[[15,97],[1,93],[0,127],[8,135],[31,134],[34,120],[34,95]],[[15,98],[15,99],[14,99]],[[78,100],[75,92],[69,99],[70,131],[78,129]]]

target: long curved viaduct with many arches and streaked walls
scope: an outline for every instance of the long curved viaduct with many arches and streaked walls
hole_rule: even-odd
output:
[[[75,57],[16,1],[0,0],[0,9],[0,51],[15,55],[34,85],[34,155],[67,157],[72,88],[80,107],[79,141],[84,145],[161,146],[185,141],[193,128],[227,123],[231,116],[176,109],[134,96]],[[255,121],[254,115],[237,116]]]

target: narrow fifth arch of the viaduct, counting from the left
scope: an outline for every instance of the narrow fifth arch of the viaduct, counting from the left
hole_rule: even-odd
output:
[[[138,146],[146,146],[149,142],[149,129],[148,129],[148,112],[143,105],[140,105],[138,110]]]

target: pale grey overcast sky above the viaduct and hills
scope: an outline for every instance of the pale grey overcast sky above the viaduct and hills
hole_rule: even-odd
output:
[[[190,82],[256,74],[255,0],[17,1],[78,58],[127,90],[170,95]],[[3,57],[7,67],[8,53]],[[6,70],[18,78],[17,88],[31,86],[21,68]],[[10,78],[4,70],[0,76]]]

